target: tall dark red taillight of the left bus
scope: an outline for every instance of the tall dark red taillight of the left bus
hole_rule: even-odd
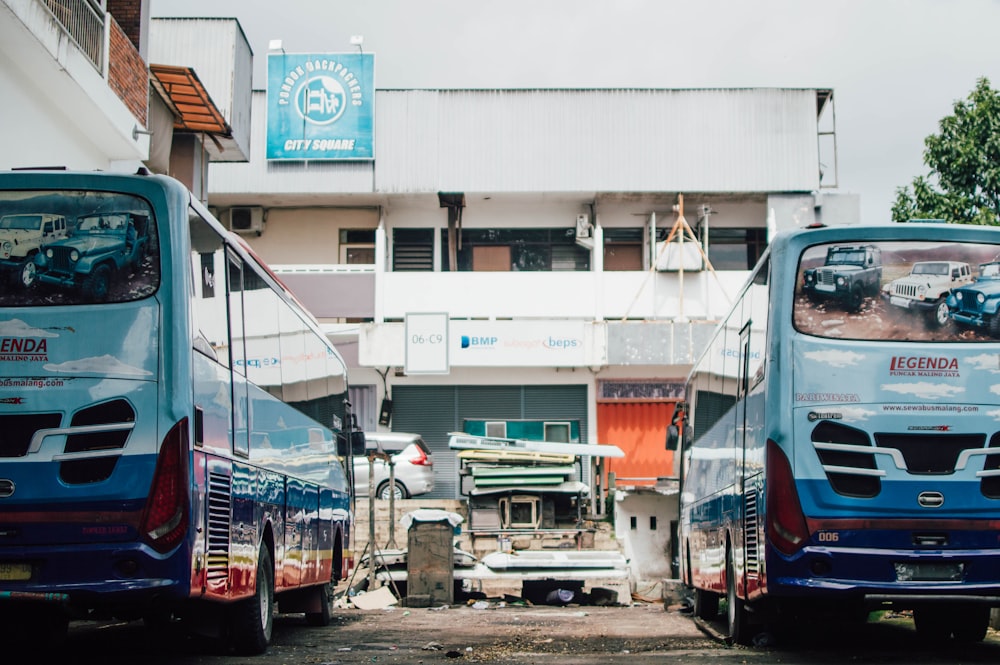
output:
[[[183,540],[188,522],[188,421],[174,425],[160,446],[156,473],[149,488],[142,533],[157,552],[167,552]]]

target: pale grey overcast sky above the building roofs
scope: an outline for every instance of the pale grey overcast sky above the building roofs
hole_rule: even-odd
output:
[[[979,77],[1000,87],[1000,0],[152,0],[239,19],[266,84],[288,53],[375,54],[376,88],[832,88],[839,191],[889,221],[923,141]],[[183,63],[171,63],[183,64]]]

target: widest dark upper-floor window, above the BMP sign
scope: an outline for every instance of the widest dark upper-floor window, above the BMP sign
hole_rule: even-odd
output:
[[[441,231],[442,270],[448,270],[448,232]],[[586,271],[590,251],[576,229],[462,229],[459,271]]]

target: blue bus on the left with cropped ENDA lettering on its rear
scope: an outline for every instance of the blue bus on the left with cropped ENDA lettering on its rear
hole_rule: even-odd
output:
[[[311,315],[163,176],[2,173],[0,256],[0,634],[329,623],[364,435]]]

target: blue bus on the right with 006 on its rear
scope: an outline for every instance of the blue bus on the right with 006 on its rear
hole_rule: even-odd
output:
[[[983,639],[1000,606],[1000,340],[948,303],[998,255],[989,227],[775,237],[668,427],[698,616],[724,609],[744,644],[890,608],[928,638]]]

